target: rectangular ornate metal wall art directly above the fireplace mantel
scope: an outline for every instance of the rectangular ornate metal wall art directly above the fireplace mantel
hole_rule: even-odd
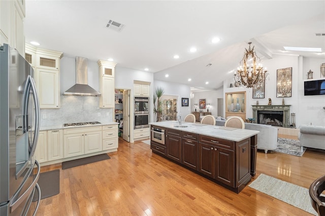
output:
[[[291,97],[292,67],[277,69],[276,97]]]

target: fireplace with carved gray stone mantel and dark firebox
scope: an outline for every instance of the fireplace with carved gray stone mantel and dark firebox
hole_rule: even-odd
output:
[[[290,105],[252,105],[254,123],[290,127]]]

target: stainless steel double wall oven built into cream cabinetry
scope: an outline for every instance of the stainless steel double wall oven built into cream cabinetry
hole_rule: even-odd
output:
[[[134,129],[149,127],[149,97],[134,97]]]

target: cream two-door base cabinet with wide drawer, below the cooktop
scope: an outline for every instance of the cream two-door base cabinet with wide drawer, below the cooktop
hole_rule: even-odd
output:
[[[102,151],[102,127],[63,129],[64,158]]]

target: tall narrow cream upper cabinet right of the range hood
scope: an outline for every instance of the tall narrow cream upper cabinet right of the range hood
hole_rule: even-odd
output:
[[[100,72],[100,107],[114,108],[115,107],[115,65],[110,61],[99,60]]]

